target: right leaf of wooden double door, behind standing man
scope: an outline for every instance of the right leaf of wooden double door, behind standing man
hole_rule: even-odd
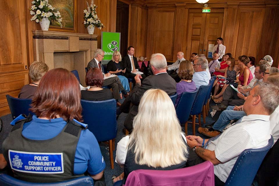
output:
[[[222,33],[222,24],[223,24],[223,13],[210,13],[206,14],[205,21],[205,33],[203,40],[203,51],[202,53],[205,56],[208,56],[208,45],[216,45],[217,38],[221,37]],[[211,61],[211,58],[208,58],[208,61]]]

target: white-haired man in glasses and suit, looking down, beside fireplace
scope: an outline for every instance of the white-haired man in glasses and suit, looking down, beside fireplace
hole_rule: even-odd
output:
[[[101,65],[101,61],[104,58],[104,51],[102,49],[96,49],[94,52],[94,59],[92,59],[88,65],[87,65],[87,69],[90,68],[99,68],[104,77],[108,77],[110,76],[110,73],[106,73],[104,74],[103,69],[102,69],[102,65]],[[117,101],[117,106],[120,106],[121,103],[118,101],[120,98],[120,94],[119,91],[121,91],[124,95],[127,95],[128,92],[124,89],[123,85],[121,84],[121,81],[119,80],[119,78],[117,76],[112,77],[112,78],[108,78],[105,79],[103,82],[103,86],[109,86],[112,87],[112,95],[113,98],[116,99]]]

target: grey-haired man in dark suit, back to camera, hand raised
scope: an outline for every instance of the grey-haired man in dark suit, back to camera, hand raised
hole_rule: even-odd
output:
[[[153,74],[155,75],[146,77],[141,84],[141,75],[137,74],[135,76],[136,85],[133,91],[130,92],[130,95],[125,99],[124,103],[120,107],[122,112],[128,112],[130,103],[132,103],[130,111],[128,112],[124,122],[124,126],[129,132],[133,130],[133,119],[135,115],[137,115],[140,98],[144,92],[151,88],[158,88],[164,90],[169,95],[176,93],[176,82],[167,73],[167,60],[165,56],[160,53],[153,54],[150,59],[150,65]]]

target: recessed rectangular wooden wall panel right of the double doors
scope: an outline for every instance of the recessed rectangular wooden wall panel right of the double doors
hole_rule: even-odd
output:
[[[253,11],[250,8],[240,8],[235,58],[241,55],[257,56],[263,16],[263,8],[254,8]]]

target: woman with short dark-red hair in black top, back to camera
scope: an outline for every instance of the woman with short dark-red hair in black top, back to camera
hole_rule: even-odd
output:
[[[103,74],[98,68],[90,68],[85,76],[88,90],[81,91],[81,99],[89,101],[103,101],[113,99],[112,92],[103,86]]]

